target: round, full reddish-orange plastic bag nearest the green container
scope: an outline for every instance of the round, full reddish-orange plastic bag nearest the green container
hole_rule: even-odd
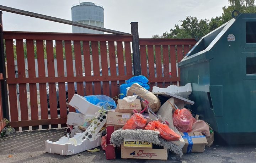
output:
[[[196,119],[192,116],[188,109],[177,109],[172,114],[174,126],[181,132],[191,132],[192,125]]]

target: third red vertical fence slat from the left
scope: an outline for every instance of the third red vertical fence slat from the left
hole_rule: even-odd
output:
[[[28,77],[36,77],[36,65],[34,59],[34,41],[27,40],[27,62],[28,62]],[[30,111],[31,120],[38,119],[38,105],[37,105],[37,86],[36,83],[29,84],[30,89]],[[32,126],[32,130],[38,130],[39,126]]]

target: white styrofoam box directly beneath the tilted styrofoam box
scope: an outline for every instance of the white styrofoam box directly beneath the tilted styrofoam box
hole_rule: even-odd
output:
[[[69,112],[66,124],[73,126],[83,125],[86,121],[86,116],[81,113]]]

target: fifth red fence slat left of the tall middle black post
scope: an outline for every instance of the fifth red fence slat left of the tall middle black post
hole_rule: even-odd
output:
[[[94,77],[100,76],[100,61],[98,54],[98,41],[91,41],[92,47],[92,66]],[[101,95],[101,82],[94,81],[94,94]]]

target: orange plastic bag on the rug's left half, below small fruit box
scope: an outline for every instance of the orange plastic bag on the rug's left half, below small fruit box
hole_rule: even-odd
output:
[[[144,129],[146,126],[146,119],[140,113],[135,113],[131,118],[124,124],[123,129]]]

